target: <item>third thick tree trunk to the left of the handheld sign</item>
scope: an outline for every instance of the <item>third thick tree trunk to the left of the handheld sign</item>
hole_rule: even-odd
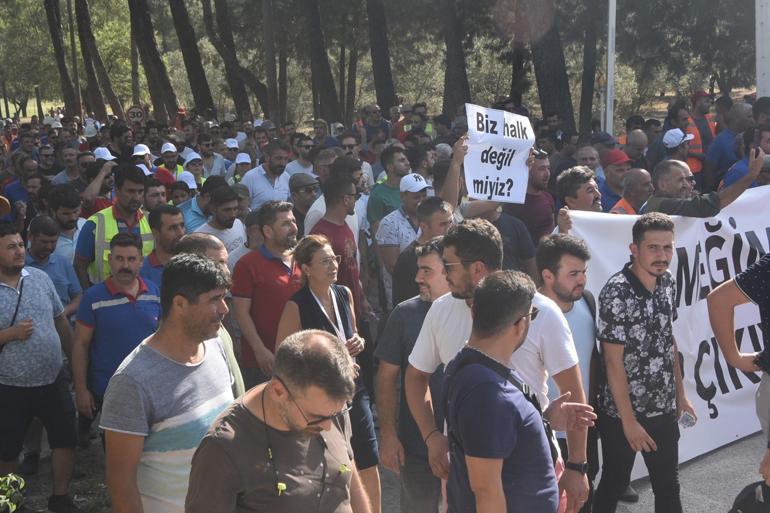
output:
[[[334,75],[326,55],[326,41],[321,26],[321,9],[318,0],[303,0],[307,37],[310,51],[310,73],[318,89],[321,117],[327,122],[339,121],[340,103],[334,87]]]

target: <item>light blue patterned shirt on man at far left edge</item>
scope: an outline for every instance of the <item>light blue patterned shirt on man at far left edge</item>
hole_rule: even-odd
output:
[[[50,385],[62,366],[61,341],[54,319],[64,310],[51,278],[40,269],[25,267],[16,288],[0,283],[0,326],[11,325],[17,303],[16,322],[32,319],[32,335],[5,344],[0,352],[0,384]]]

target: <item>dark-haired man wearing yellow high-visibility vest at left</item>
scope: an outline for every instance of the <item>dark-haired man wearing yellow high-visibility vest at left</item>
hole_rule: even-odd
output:
[[[115,171],[115,204],[88,218],[75,250],[75,271],[83,289],[101,283],[110,272],[110,241],[118,233],[137,235],[142,254],[153,249],[152,230],[142,213],[144,173],[134,165],[120,165]]]

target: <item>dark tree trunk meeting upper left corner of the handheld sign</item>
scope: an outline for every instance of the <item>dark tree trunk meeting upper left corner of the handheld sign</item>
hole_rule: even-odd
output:
[[[462,43],[462,27],[457,16],[457,0],[441,0],[441,21],[446,44],[446,70],[444,72],[443,112],[454,116],[459,105],[471,100],[471,88],[465,69],[465,51]]]

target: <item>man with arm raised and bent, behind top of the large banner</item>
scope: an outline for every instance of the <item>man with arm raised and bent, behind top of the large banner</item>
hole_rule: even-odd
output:
[[[686,162],[664,160],[652,170],[655,192],[642,206],[641,213],[661,212],[668,215],[688,217],[713,217],[723,208],[738,199],[757,179],[765,164],[765,152],[761,147],[747,149],[749,171],[719,191],[699,194],[695,179]]]

